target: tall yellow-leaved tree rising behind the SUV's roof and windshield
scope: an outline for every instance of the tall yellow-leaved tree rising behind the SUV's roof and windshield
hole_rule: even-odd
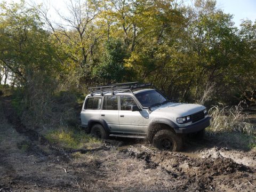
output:
[[[153,81],[169,95],[174,95],[174,84],[183,77],[182,39],[185,36],[185,10],[173,1],[152,1],[143,10],[138,26],[136,45],[126,65],[137,73],[141,81]],[[139,19],[138,19],[139,21]],[[144,23],[144,24],[143,24]],[[177,73],[178,72],[178,73]],[[179,81],[180,82],[180,81]],[[174,94],[173,94],[174,93]]]

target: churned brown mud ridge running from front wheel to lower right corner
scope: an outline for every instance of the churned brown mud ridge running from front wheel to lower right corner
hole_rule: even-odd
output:
[[[194,190],[246,190],[246,182],[250,185],[256,179],[253,167],[235,163],[231,158],[222,156],[193,158],[181,153],[150,150],[145,147],[132,147],[122,152],[143,159],[147,169],[158,167],[165,170],[175,179],[185,182],[185,186],[193,186]]]

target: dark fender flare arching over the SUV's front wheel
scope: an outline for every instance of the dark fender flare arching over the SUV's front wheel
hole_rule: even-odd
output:
[[[176,132],[176,129],[179,128],[179,126],[175,124],[173,121],[171,121],[170,119],[154,118],[148,125],[147,139],[149,142],[153,140],[153,137],[156,134],[156,132],[162,129],[161,127],[155,126],[157,124],[165,124],[169,126],[170,129],[173,130],[174,132]]]

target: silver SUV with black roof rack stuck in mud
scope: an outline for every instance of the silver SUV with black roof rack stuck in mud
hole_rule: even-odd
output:
[[[159,149],[178,151],[182,135],[202,135],[211,117],[202,105],[172,102],[151,83],[91,87],[81,111],[82,126],[101,139],[145,138]]]

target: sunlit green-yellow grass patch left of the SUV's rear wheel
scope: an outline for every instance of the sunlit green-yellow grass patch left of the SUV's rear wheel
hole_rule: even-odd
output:
[[[47,140],[58,144],[65,149],[90,148],[93,145],[101,143],[101,140],[91,137],[81,129],[62,126],[57,130],[49,131],[45,134]]]

